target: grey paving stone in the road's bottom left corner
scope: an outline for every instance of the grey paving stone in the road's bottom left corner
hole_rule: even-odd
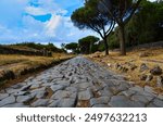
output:
[[[14,102],[15,102],[15,97],[10,96],[10,97],[7,97],[5,99],[0,101],[0,106],[7,105],[10,103],[14,103]]]

